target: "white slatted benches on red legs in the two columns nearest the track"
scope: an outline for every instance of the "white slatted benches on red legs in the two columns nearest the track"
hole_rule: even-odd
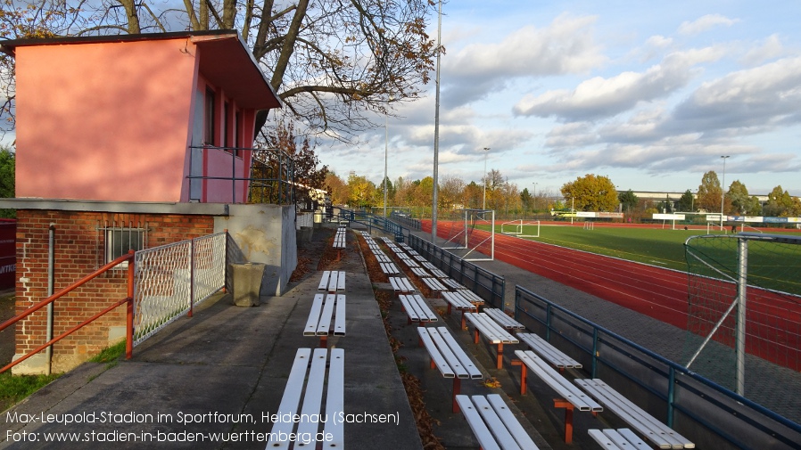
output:
[[[400,245],[393,245],[390,248],[395,251],[396,255],[400,255]],[[500,309],[484,308],[482,313],[478,313],[476,304],[470,301],[473,298],[467,298],[459,293],[460,291],[450,292],[449,289],[453,286],[445,286],[444,280],[440,281],[437,278],[425,276],[425,269],[431,270],[435,267],[418,268],[417,262],[422,262],[420,259],[408,256],[400,259],[410,266],[414,274],[421,277],[430,290],[442,294],[442,299],[448,303],[449,314],[452,307],[456,307],[462,312],[462,328],[465,327],[466,320],[473,325],[475,343],[478,343],[480,336],[483,336],[492,345],[497,346],[497,368],[502,367],[503,344],[516,344],[522,341],[531,348],[531,350],[516,350],[516,358],[512,360],[513,365],[521,367],[521,395],[525,394],[526,377],[529,371],[535,373],[557,392],[560,398],[554,400],[554,405],[557,408],[565,409],[566,443],[572,442],[574,410],[596,414],[607,408],[659,448],[694,448],[689,439],[681,437],[664,423],[657,421],[617,393],[615,389],[608,387],[603,381],[575,380],[575,383],[570,382],[559,372],[571,368],[582,368],[582,364],[534,333],[517,332],[513,334],[510,332],[524,330],[524,326]],[[423,262],[423,264],[426,263]],[[402,280],[408,282],[405,278]],[[392,282],[393,288],[396,288],[398,284],[400,284],[400,280]],[[408,292],[414,292],[413,287],[411,289]],[[475,295],[472,291],[466,291]],[[406,294],[400,295],[399,298],[404,310],[409,315],[409,323],[436,322],[436,315],[421,296]],[[417,331],[420,334],[421,345],[425,346],[431,357],[432,368],[438,368],[444,378],[453,379],[452,409],[454,412],[461,410],[464,413],[482,448],[536,448],[514,414],[508,412],[508,407],[500,397],[460,395],[460,380],[483,378],[483,374],[475,369],[475,364],[458,346],[458,342],[453,339],[446,327],[418,327]],[[557,370],[553,367],[556,367]],[[646,444],[630,429],[590,430],[589,432],[590,437],[605,448],[647,448]]]

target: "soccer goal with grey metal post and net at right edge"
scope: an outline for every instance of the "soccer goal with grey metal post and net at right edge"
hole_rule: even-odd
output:
[[[765,390],[771,371],[801,371],[801,237],[692,236],[684,249],[687,367],[761,402],[751,396]],[[780,384],[767,390],[780,392]]]

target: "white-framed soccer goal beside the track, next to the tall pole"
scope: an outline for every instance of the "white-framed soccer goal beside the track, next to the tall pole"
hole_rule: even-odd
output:
[[[453,227],[448,240],[443,245],[444,250],[467,250],[462,256],[466,261],[492,261],[495,259],[495,210],[494,209],[460,209],[460,220],[457,226]],[[488,233],[475,233],[476,226],[480,230],[487,228]],[[489,257],[470,255],[482,255],[476,250],[483,250]]]

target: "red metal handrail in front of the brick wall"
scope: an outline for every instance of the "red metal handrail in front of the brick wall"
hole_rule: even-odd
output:
[[[49,340],[48,342],[45,342],[45,344],[42,344],[39,347],[34,348],[33,350],[29,351],[29,353],[27,353],[25,356],[22,356],[21,358],[15,360],[15,361],[12,361],[12,363],[10,363],[10,364],[6,365],[4,368],[0,369],[0,373],[3,373],[5,371],[7,371],[8,369],[11,369],[16,364],[20,364],[22,361],[25,361],[30,356],[36,355],[38,352],[40,352],[43,349],[53,345],[55,342],[58,342],[59,340],[62,340],[64,338],[66,338],[67,336],[69,336],[73,332],[78,331],[79,329],[81,329],[84,326],[86,326],[88,323],[94,322],[98,317],[108,313],[109,311],[113,310],[116,307],[119,307],[123,303],[127,303],[128,304],[128,307],[126,308],[125,357],[126,357],[126,359],[130,359],[130,357],[133,356],[133,345],[134,345],[134,255],[135,255],[134,250],[128,251],[128,254],[122,255],[120,258],[114,259],[113,261],[111,261],[110,263],[106,264],[105,266],[102,266],[99,269],[95,270],[95,272],[93,272],[91,274],[88,274],[87,276],[81,278],[77,282],[73,282],[72,284],[70,284],[66,288],[64,288],[62,290],[59,290],[58,292],[54,293],[50,297],[38,302],[36,305],[34,305],[32,307],[29,307],[25,311],[21,312],[19,315],[16,315],[16,316],[12,317],[11,319],[5,321],[3,324],[0,324],[0,331],[3,331],[6,328],[8,328],[9,326],[11,326],[12,324],[17,323],[17,322],[21,321],[22,319],[24,319],[25,317],[37,312],[42,307],[46,307],[50,303],[53,303],[56,299],[62,298],[64,295],[70,293],[72,290],[76,290],[77,288],[79,288],[80,286],[83,286],[87,282],[90,282],[90,281],[94,280],[96,277],[100,276],[101,274],[104,274],[104,273],[108,272],[109,270],[111,270],[115,266],[119,266],[123,262],[128,261],[128,297],[126,297],[125,299],[118,300],[116,303],[114,303],[110,307],[104,308],[102,311],[100,311],[99,313],[89,317],[84,322],[78,323],[78,325],[75,325],[74,327],[70,328],[70,330],[68,330],[68,331],[64,331],[58,337],[56,337],[56,338],[54,338],[52,340]]]

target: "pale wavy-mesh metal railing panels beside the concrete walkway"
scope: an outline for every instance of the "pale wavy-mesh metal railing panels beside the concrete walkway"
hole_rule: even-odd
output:
[[[134,346],[226,285],[227,233],[136,252]]]

